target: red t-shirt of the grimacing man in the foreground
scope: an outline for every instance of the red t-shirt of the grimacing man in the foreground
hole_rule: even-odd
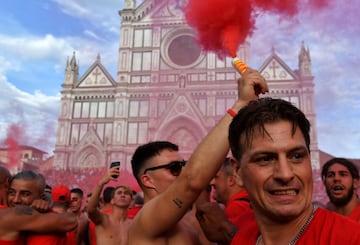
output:
[[[231,245],[256,244],[258,227],[240,227],[231,241]],[[318,208],[310,225],[305,229],[296,245],[359,245],[360,223],[334,212]]]

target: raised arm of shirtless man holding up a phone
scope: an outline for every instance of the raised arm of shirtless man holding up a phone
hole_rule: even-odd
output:
[[[117,181],[116,178],[113,178],[112,175],[119,175],[119,167],[112,167],[109,169],[104,177],[99,181],[96,185],[95,189],[92,192],[92,195],[89,199],[88,206],[87,206],[87,213],[89,218],[95,225],[101,225],[104,222],[106,214],[101,212],[98,209],[99,201],[100,201],[100,194],[104,185],[109,183],[110,180]]]

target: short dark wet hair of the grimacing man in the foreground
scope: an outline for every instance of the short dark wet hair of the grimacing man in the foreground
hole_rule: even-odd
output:
[[[268,135],[265,124],[289,121],[292,124],[292,133],[299,127],[310,151],[310,122],[305,114],[282,99],[261,98],[250,101],[234,117],[229,127],[229,143],[233,156],[240,160],[245,146],[250,146],[256,129],[260,129],[264,135]],[[244,136],[244,145],[241,145],[241,137]]]

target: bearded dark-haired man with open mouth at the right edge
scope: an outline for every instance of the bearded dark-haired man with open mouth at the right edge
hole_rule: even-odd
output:
[[[357,167],[347,159],[333,158],[324,164],[321,176],[334,211],[360,222]]]

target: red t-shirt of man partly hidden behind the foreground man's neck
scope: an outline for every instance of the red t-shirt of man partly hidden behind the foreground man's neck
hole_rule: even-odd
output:
[[[248,194],[245,190],[237,192],[230,197],[226,203],[225,215],[231,221],[236,224],[238,217],[243,213],[251,210]]]

